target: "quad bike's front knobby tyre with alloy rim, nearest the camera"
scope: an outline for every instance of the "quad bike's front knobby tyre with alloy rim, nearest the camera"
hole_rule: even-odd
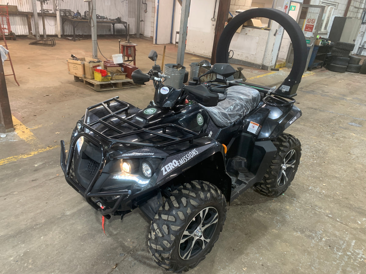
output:
[[[153,259],[175,273],[197,266],[219,239],[226,211],[225,197],[213,184],[180,186],[152,221],[148,244]]]

